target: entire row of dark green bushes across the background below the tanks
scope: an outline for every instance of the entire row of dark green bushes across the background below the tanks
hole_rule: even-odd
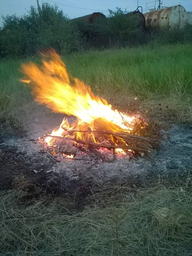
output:
[[[0,30],[1,56],[27,56],[46,48],[60,54],[82,48],[108,48],[192,42],[192,25],[184,28],[147,31],[137,12],[126,13],[120,8],[109,10],[109,17],[98,16],[90,23],[86,19],[70,20],[57,6],[43,3],[38,10],[31,6],[27,15],[7,15]]]

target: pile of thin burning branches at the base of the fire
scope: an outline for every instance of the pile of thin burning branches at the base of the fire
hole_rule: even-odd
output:
[[[95,157],[107,162],[113,162],[116,159],[116,151],[115,149],[120,148],[123,149],[125,154],[129,156],[129,158],[136,159],[135,155],[141,156],[148,156],[150,157],[149,153],[152,151],[151,142],[155,141],[155,139],[146,138],[142,136],[131,135],[130,133],[126,132],[110,132],[110,131],[100,131],[100,130],[70,130],[70,132],[80,132],[80,133],[95,133],[103,138],[110,138],[107,141],[107,144],[103,143],[94,143],[91,141],[84,141],[80,139],[73,139],[70,137],[60,137],[54,135],[44,135],[42,138],[52,137],[55,139],[64,139],[64,140],[71,140],[75,143],[73,144],[74,147],[78,148],[80,151],[85,152],[91,157]],[[85,145],[83,147],[82,145]],[[98,152],[97,149],[99,148],[107,148],[113,152],[112,159],[106,159],[106,157]],[[74,160],[76,160],[74,158]]]

